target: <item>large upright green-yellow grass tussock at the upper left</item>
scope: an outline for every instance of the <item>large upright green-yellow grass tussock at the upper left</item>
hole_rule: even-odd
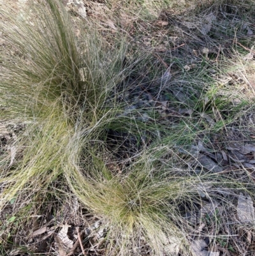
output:
[[[14,145],[22,157],[8,167],[10,156],[1,156],[1,207],[62,174],[77,125],[96,139],[116,112],[108,96],[121,76],[125,49],[117,47],[109,59],[94,38],[85,41],[82,56],[61,3],[36,3],[31,10],[20,18],[5,6],[1,22],[1,121],[27,124]]]

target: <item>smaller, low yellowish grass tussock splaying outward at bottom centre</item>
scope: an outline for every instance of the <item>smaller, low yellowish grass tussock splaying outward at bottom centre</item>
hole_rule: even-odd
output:
[[[174,178],[149,158],[141,156],[126,175],[112,176],[103,165],[98,165],[91,176],[78,167],[66,170],[73,192],[105,224],[110,243],[107,255],[140,255],[146,246],[152,255],[168,254],[187,244],[182,228],[177,226],[181,223],[177,205],[197,193],[199,179],[189,183],[187,178]]]

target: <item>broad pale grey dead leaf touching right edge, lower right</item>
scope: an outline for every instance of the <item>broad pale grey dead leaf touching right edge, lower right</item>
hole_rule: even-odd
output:
[[[254,222],[253,201],[249,195],[240,193],[237,202],[237,218],[240,222]]]

